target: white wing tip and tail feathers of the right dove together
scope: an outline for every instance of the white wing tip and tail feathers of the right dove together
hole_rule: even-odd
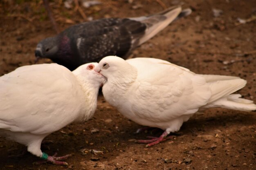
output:
[[[246,84],[244,79],[231,76],[205,75],[209,83],[212,96],[206,106],[202,108],[229,108],[234,110],[256,110],[256,104],[251,100],[240,98],[240,94],[231,94],[243,88]]]

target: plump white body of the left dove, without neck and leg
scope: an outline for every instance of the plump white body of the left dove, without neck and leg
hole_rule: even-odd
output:
[[[44,134],[70,124],[79,85],[64,66],[22,66],[0,77],[0,128]],[[69,96],[69,97],[66,97]],[[66,107],[73,105],[74,107]]]

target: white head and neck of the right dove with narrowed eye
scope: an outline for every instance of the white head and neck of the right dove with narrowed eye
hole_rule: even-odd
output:
[[[116,56],[104,57],[94,70],[106,77],[102,92],[105,99],[115,107],[120,104],[117,99],[125,97],[137,79],[137,69]]]

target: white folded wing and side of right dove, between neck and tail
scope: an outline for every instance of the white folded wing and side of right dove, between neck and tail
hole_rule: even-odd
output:
[[[126,60],[138,70],[130,95],[132,111],[150,121],[168,121],[195,113],[207,103],[211,92],[203,77],[169,62],[135,58]]]

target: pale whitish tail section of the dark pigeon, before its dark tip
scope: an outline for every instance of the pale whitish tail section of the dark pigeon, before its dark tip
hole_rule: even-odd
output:
[[[168,26],[175,18],[181,13],[181,7],[170,8],[156,15],[151,15],[141,22],[148,25],[144,36],[139,40],[139,44],[142,44],[155,36],[159,31],[162,31]]]

